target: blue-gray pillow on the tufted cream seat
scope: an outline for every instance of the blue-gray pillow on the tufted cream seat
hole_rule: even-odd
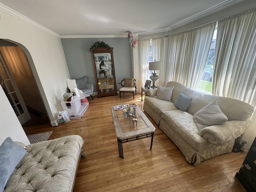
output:
[[[26,150],[14,143],[10,137],[6,138],[0,146],[0,191],[11,176],[13,170],[26,154]]]

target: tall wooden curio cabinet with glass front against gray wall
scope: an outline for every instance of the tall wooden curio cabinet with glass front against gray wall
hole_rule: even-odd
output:
[[[117,95],[113,48],[95,48],[91,55],[98,98]]]

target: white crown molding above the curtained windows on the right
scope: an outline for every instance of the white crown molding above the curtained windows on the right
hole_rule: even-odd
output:
[[[209,9],[207,9],[207,10],[204,10],[204,11],[202,11],[202,12],[200,12],[200,13],[194,15],[194,16],[191,16],[190,18],[187,18],[185,20],[182,20],[181,22],[178,22],[178,23],[176,23],[176,24],[174,24],[172,26],[169,26],[168,28],[162,28],[162,29],[158,29],[158,30],[139,32],[138,34],[139,35],[148,35],[148,34],[154,34],[154,33],[171,31],[171,30],[173,30],[175,28],[178,28],[180,26],[186,25],[186,24],[191,23],[191,22],[193,22],[195,20],[198,20],[198,19],[203,18],[205,16],[208,16],[210,14],[216,13],[216,12],[218,12],[220,10],[223,10],[225,8],[228,8],[228,7],[231,7],[231,6],[235,5],[235,4],[238,4],[238,3],[243,2],[243,1],[245,1],[245,0],[226,0],[223,3],[220,3],[220,4],[218,4],[218,5],[214,6],[214,7],[211,7]]]

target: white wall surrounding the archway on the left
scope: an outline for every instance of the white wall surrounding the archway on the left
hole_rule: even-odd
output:
[[[67,90],[65,80],[70,78],[60,38],[2,10],[0,10],[0,38],[15,42],[24,50],[51,124],[58,125],[58,111],[62,110],[60,100]],[[0,100],[1,105],[8,106],[8,100],[2,90]],[[26,142],[26,134],[22,134],[22,127],[17,125],[16,115],[14,113],[6,115],[6,110],[3,109],[1,106],[0,143],[7,136]],[[7,112],[9,110],[10,107],[7,107]],[[2,122],[8,124],[8,127],[2,126]]]

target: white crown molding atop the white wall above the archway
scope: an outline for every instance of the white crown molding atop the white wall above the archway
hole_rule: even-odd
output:
[[[14,16],[14,17],[16,17],[16,18],[18,18],[18,19],[20,19],[20,20],[22,20],[22,21],[24,21],[24,22],[26,22],[26,23],[28,23],[28,24],[30,24],[32,26],[35,26],[36,28],[39,28],[39,29],[41,29],[41,30],[43,30],[43,31],[45,31],[47,33],[50,33],[50,34],[60,38],[60,35],[58,33],[56,33],[54,31],[52,31],[52,30],[50,30],[50,29],[48,29],[48,28],[38,24],[37,22],[35,22],[35,21],[31,20],[30,18],[28,18],[28,17],[26,17],[26,16],[16,12],[15,10],[5,6],[2,3],[0,3],[0,10],[5,12],[5,13],[7,13],[7,14],[9,14],[9,15],[11,15],[11,16]]]

